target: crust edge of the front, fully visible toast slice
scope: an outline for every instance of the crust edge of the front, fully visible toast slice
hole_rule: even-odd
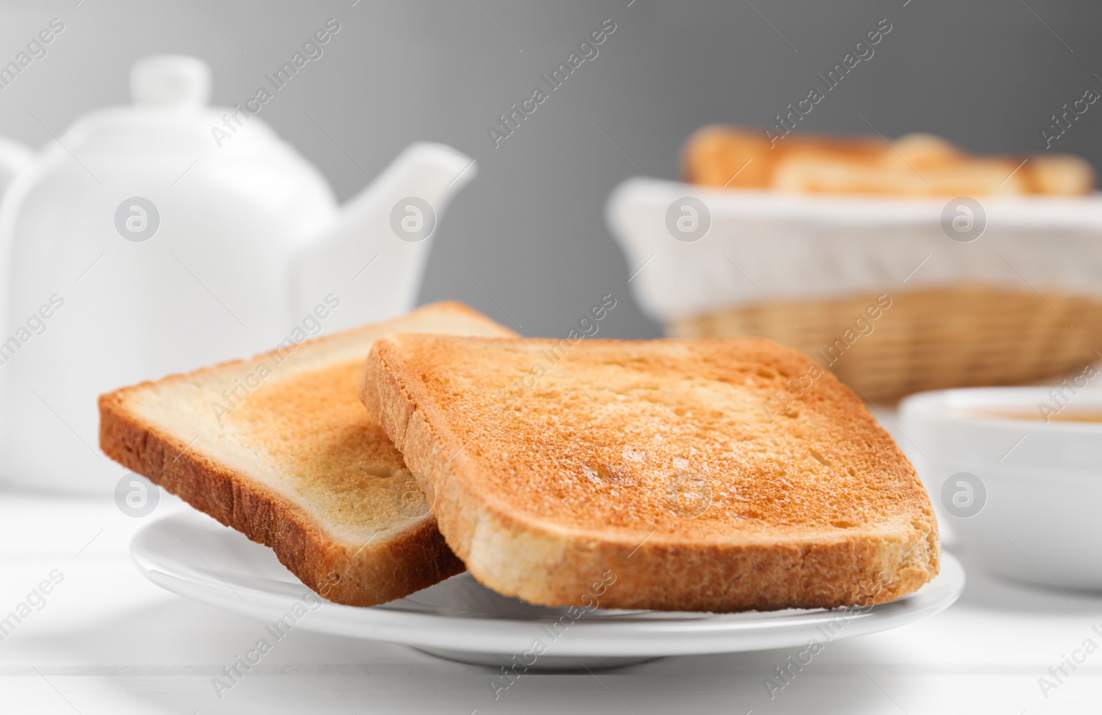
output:
[[[875,423],[879,434],[868,437],[890,445],[888,457],[901,465],[907,484],[901,499],[909,511],[897,523],[702,541],[653,531],[626,537],[533,519],[479,484],[485,464],[465,449],[422,380],[412,379],[421,369],[407,362],[404,348],[411,340],[406,338],[413,337],[376,343],[360,398],[425,490],[434,492],[432,510],[449,545],[494,591],[547,606],[584,607],[596,598],[603,608],[833,608],[894,600],[938,573],[940,543],[929,498],[914,468]],[[747,340],[780,351],[792,365],[810,364],[795,350],[759,338],[719,343]],[[833,376],[822,379],[845,410],[867,415]],[[602,586],[609,578],[614,585]]]

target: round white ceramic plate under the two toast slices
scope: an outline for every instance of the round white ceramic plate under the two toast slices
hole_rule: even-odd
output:
[[[317,605],[270,549],[191,511],[142,529],[130,553],[138,570],[159,586],[268,624],[300,604],[299,613],[305,614],[294,628],[401,643],[469,663],[508,664],[516,656],[532,670],[611,668],[662,656],[806,646],[812,639],[831,640],[831,633],[863,636],[932,616],[964,589],[963,567],[944,554],[933,582],[868,608],[743,614],[598,609],[572,619],[565,608],[498,595],[468,574],[382,606]],[[542,653],[533,651],[534,641],[543,644]]]

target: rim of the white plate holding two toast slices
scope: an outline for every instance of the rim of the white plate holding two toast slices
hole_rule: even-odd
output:
[[[130,555],[139,573],[176,595],[263,621],[277,620],[279,615],[287,611],[295,602],[303,602],[307,595],[316,597],[314,592],[301,583],[287,582],[289,585],[301,587],[298,594],[262,589],[242,583],[235,583],[231,586],[216,572],[213,575],[203,575],[197,571],[186,574],[179,566],[172,567],[173,556],[162,554],[159,559],[160,551],[150,548],[151,540],[169,530],[175,532],[176,529],[173,527],[210,530],[210,527],[218,524],[225,530],[218,534],[219,538],[247,540],[245,534],[224,527],[206,514],[202,514],[203,521],[199,517],[198,512],[175,512],[137,531],[130,541]],[[263,544],[255,545],[257,549],[268,549]],[[165,564],[165,561],[170,563]],[[288,574],[294,578],[290,572]],[[269,577],[262,578],[276,583]],[[670,611],[677,617],[669,619],[625,617],[616,620],[586,619],[583,616],[573,619],[561,635],[552,640],[548,653],[554,657],[615,657],[626,653],[657,657],[769,650],[804,644],[809,641],[809,633],[825,632],[818,630],[818,627],[843,620],[844,628],[829,639],[833,641],[889,630],[929,618],[955,603],[964,591],[965,582],[964,567],[961,563],[952,554],[942,552],[941,570],[933,581],[899,599],[857,613],[847,614],[841,609],[785,609],[736,614],[703,613],[694,618],[689,611]],[[238,597],[233,597],[230,592]],[[321,608],[310,611],[294,627],[313,632],[413,648],[479,653],[522,653],[528,651],[540,636],[545,638],[547,633],[552,632],[542,629],[541,626],[557,622],[550,617],[539,619],[456,617],[446,614],[403,611],[387,608],[386,604],[359,607],[324,599],[321,602]],[[793,614],[791,613],[793,610],[800,613]],[[749,619],[745,617],[747,613],[760,617]]]

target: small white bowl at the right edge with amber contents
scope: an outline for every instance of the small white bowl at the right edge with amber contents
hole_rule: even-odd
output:
[[[1070,380],[1069,380],[1070,382]],[[1057,588],[1102,588],[1102,423],[1046,422],[1054,388],[915,394],[900,432],[939,518],[980,565]],[[1060,416],[1102,413],[1102,391],[1067,392]],[[1026,413],[1034,419],[998,416]]]

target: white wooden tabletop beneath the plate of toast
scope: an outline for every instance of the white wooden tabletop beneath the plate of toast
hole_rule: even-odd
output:
[[[0,617],[53,570],[55,579],[64,575],[0,642],[0,713],[1102,712],[1102,650],[1048,697],[1038,685],[1084,639],[1102,647],[1091,630],[1102,630],[1102,594],[1071,593],[1069,603],[1055,591],[994,582],[966,553],[958,554],[969,586],[957,605],[828,644],[773,700],[763,679],[789,651],[525,674],[495,701],[489,669],[303,630],[219,700],[212,679],[256,642],[262,622],[162,591],[128,554],[143,523],[185,508],[162,495],[151,516],[134,519],[110,496],[0,492]]]

